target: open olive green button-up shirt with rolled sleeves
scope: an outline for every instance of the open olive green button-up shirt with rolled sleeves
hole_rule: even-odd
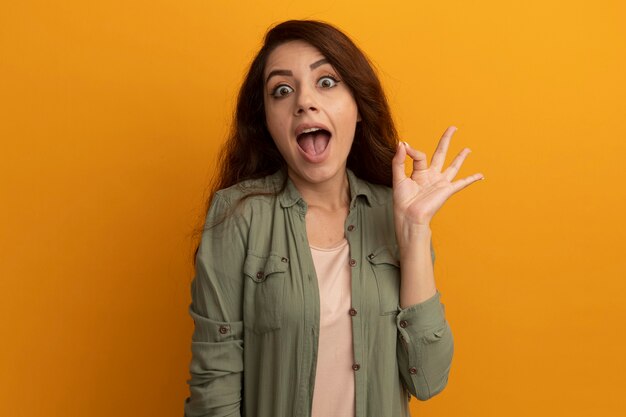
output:
[[[347,175],[355,415],[409,416],[409,394],[427,400],[446,386],[452,333],[439,292],[399,307],[391,189]],[[186,417],[310,416],[319,288],[307,205],[288,178],[279,191],[285,179],[278,171],[213,198],[191,288]],[[432,245],[431,254],[434,262]]]

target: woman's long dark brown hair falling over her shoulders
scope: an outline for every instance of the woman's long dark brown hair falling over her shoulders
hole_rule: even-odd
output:
[[[361,121],[356,126],[347,167],[359,178],[391,186],[391,159],[398,137],[387,98],[372,64],[336,27],[315,20],[289,20],[266,33],[263,46],[246,74],[231,131],[219,155],[217,178],[213,181],[207,210],[216,191],[286,168],[265,124],[263,73],[270,53],[281,44],[294,40],[317,48],[354,96]]]

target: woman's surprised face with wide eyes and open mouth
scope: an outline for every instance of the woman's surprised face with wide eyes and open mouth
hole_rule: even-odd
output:
[[[312,45],[278,46],[264,72],[267,128],[297,186],[345,175],[359,119],[351,91]]]

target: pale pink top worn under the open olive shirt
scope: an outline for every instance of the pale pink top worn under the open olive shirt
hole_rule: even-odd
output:
[[[320,336],[312,417],[354,417],[350,247],[311,246],[320,290]]]

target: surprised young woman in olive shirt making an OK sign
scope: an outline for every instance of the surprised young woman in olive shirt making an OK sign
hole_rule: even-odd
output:
[[[271,29],[241,88],[196,254],[185,414],[408,416],[446,385],[452,334],[430,221],[442,170],[398,142],[380,82],[338,29]],[[407,177],[404,161],[413,159]]]

